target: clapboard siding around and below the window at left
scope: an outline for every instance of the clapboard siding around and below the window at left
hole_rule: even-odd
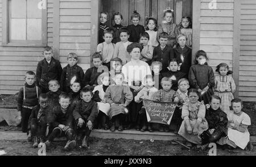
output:
[[[48,0],[47,41],[51,41],[52,2]],[[36,71],[37,62],[43,59],[43,48],[2,46],[2,0],[0,0],[0,94],[15,94],[24,84],[24,74],[28,70]],[[51,42],[48,42],[51,46]]]

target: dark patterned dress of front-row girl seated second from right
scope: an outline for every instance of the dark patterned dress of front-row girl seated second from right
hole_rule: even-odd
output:
[[[226,113],[224,113],[220,108],[213,110],[211,107],[206,110],[205,119],[207,119],[209,129],[215,129],[213,134],[209,134],[209,131],[204,131],[201,134],[202,142],[212,143],[217,142],[222,136],[228,134],[228,118]]]

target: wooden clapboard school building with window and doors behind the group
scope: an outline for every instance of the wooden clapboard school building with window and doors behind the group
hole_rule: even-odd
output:
[[[100,11],[123,14],[123,25],[137,10],[160,23],[163,10],[174,9],[175,23],[183,15],[193,22],[193,54],[209,55],[215,70],[225,62],[234,71],[236,96],[256,101],[256,1],[254,0],[0,0],[0,94],[15,94],[24,73],[36,70],[43,47],[52,46],[54,57],[67,65],[69,52],[79,55],[86,71],[97,46]],[[108,22],[112,25],[111,20]]]

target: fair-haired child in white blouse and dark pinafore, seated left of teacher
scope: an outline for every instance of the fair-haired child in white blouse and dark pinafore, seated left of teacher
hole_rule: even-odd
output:
[[[109,87],[109,73],[104,72],[98,78],[101,81],[100,85],[97,85],[93,89],[93,100],[98,103],[99,113],[98,117],[96,119],[96,128],[101,129],[101,127],[104,127],[105,130],[109,129],[109,121],[108,121],[108,113],[110,110],[110,104],[106,103],[104,101],[104,95],[106,92],[106,89]]]

